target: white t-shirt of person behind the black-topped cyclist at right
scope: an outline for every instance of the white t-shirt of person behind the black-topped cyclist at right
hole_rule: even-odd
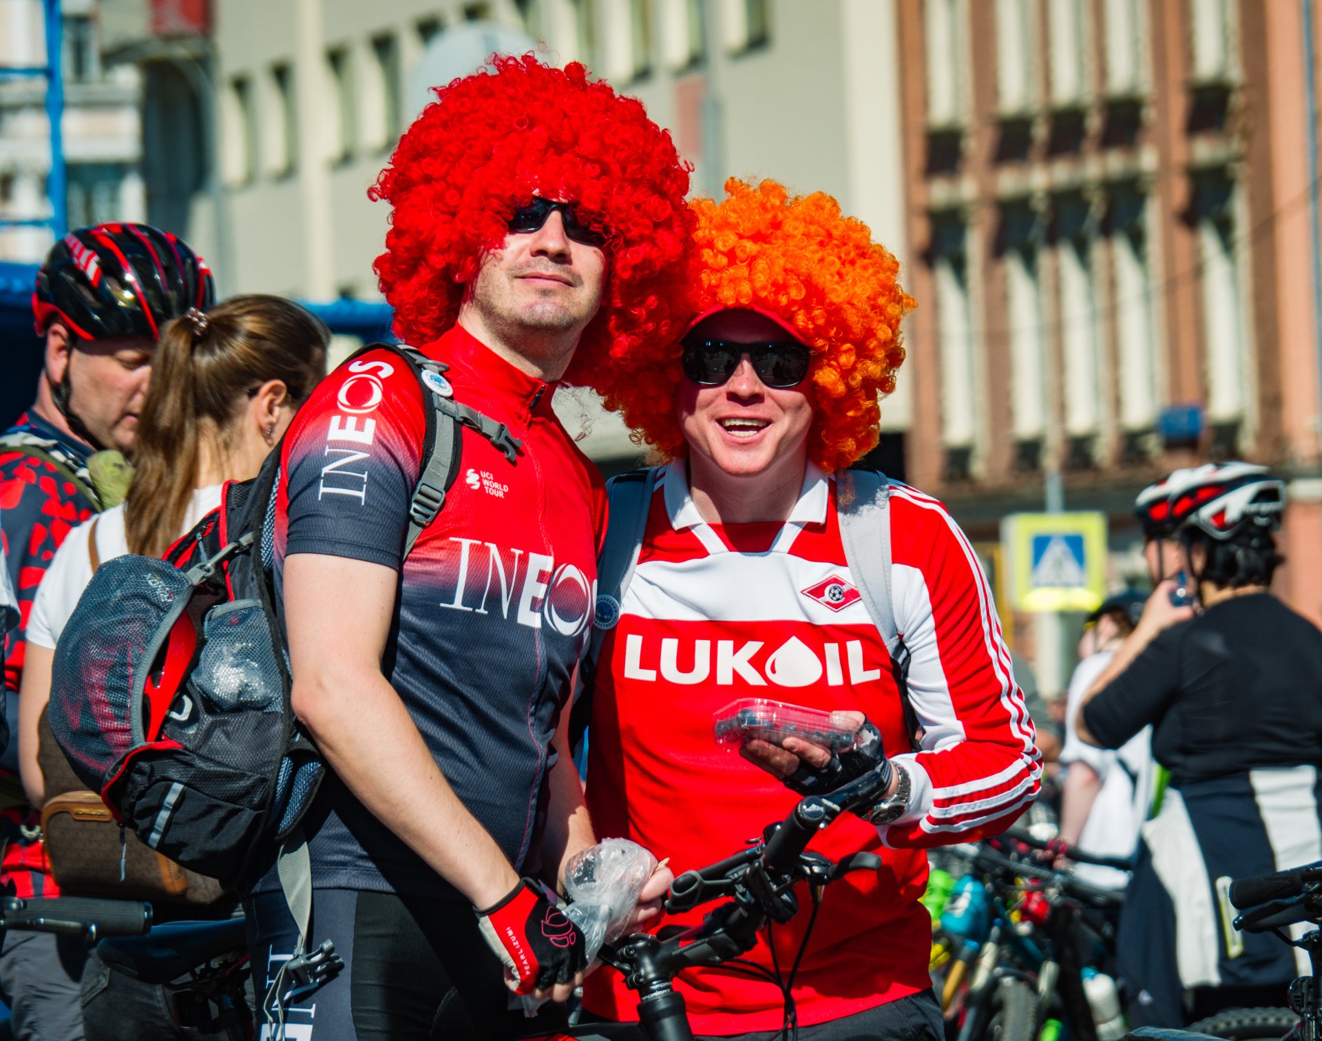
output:
[[[1085,763],[1096,771],[1101,784],[1079,835],[1079,848],[1085,853],[1128,857],[1138,847],[1138,827],[1147,817],[1153,798],[1153,729],[1145,726],[1118,750],[1110,751],[1080,741],[1075,724],[1079,702],[1113,656],[1113,651],[1099,651],[1075,668],[1066,702],[1066,743],[1060,750],[1060,762],[1066,766]],[[1080,864],[1076,873],[1084,881],[1108,889],[1129,885],[1129,874],[1114,868]]]

